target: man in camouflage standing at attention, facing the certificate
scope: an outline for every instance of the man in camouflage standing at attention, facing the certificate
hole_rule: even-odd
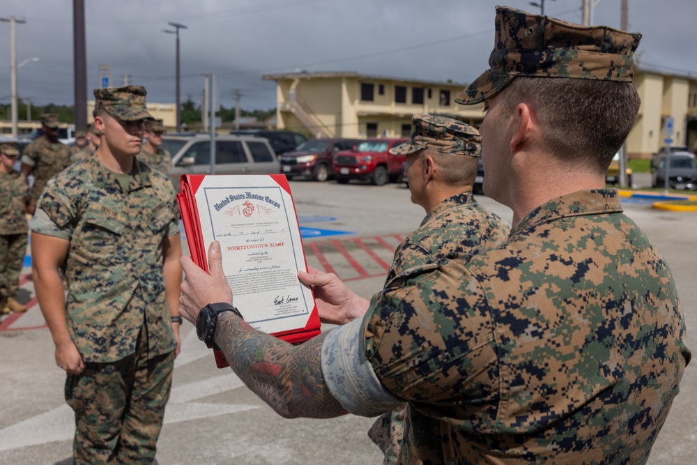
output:
[[[150,116],[144,88],[97,89],[95,98],[95,120],[106,128],[100,146],[137,124],[140,135],[128,137],[139,140],[142,120]],[[151,463],[169,399],[181,280],[176,193],[167,178],[137,160],[134,147],[135,153],[112,153],[122,162],[130,157],[130,173],[107,169],[101,159],[109,154],[98,150],[56,175],[31,222],[34,257],[45,251],[35,246],[67,242],[61,242],[66,321],[56,323],[62,309],[42,299],[40,292],[48,291],[40,282],[37,294],[56,340],[56,360],[64,358],[58,341],[65,331],[84,364],[82,372],[66,368],[76,463]],[[61,258],[56,255],[56,265]]]

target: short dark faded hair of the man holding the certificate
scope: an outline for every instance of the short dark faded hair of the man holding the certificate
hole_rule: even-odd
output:
[[[547,150],[605,172],[634,126],[641,99],[631,82],[516,77],[501,93],[506,112],[533,109]]]

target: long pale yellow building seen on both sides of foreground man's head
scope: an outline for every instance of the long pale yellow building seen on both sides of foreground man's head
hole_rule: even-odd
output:
[[[277,128],[314,137],[411,135],[411,115],[451,116],[478,128],[483,105],[458,105],[466,84],[360,75],[290,73],[265,75],[276,82]],[[673,145],[697,145],[697,79],[636,70],[641,109],[627,138],[629,158],[650,158],[664,146],[666,117],[675,123]]]

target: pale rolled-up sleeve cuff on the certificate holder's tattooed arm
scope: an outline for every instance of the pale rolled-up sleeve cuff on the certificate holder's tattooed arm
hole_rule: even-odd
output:
[[[378,416],[402,402],[378,381],[365,358],[362,320],[331,330],[322,344],[322,374],[332,395],[346,411]]]

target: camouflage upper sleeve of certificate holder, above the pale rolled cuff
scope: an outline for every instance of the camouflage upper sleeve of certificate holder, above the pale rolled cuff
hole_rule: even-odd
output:
[[[392,395],[411,402],[498,392],[491,312],[479,282],[452,261],[399,277],[364,317],[366,356]]]

